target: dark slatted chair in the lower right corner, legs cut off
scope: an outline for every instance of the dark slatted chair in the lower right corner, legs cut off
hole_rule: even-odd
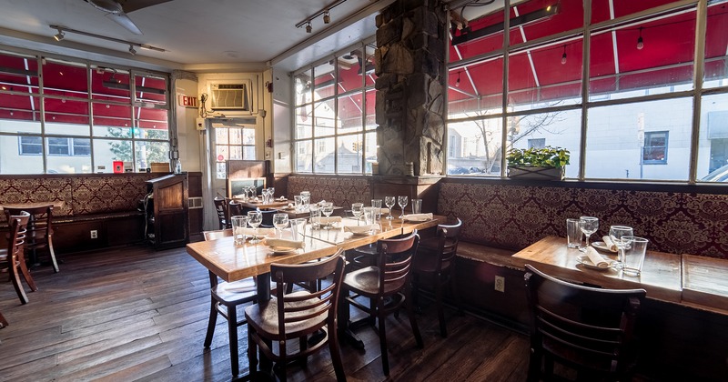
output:
[[[644,289],[580,286],[531,265],[526,270],[531,310],[528,380],[553,379],[554,361],[576,370],[581,380],[631,380],[634,324]]]

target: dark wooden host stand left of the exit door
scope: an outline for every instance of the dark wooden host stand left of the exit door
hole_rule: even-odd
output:
[[[189,241],[187,174],[147,180],[147,239],[155,249],[185,246]]]

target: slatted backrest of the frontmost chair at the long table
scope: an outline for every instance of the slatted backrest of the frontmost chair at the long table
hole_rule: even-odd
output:
[[[334,326],[344,277],[342,253],[343,250],[339,249],[334,256],[316,262],[270,265],[270,275],[277,285],[279,338],[286,338],[287,331],[300,327],[306,327],[306,333],[297,335],[313,333],[327,324]],[[314,282],[331,275],[331,284],[319,291],[286,294],[289,284]]]

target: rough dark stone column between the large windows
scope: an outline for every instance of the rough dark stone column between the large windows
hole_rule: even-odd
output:
[[[377,16],[379,175],[444,175],[445,10],[397,0]]]

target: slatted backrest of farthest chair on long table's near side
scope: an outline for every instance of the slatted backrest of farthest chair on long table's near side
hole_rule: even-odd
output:
[[[412,258],[420,245],[420,235],[415,229],[409,236],[382,239],[377,242],[379,253],[379,295],[398,293],[407,285]]]

